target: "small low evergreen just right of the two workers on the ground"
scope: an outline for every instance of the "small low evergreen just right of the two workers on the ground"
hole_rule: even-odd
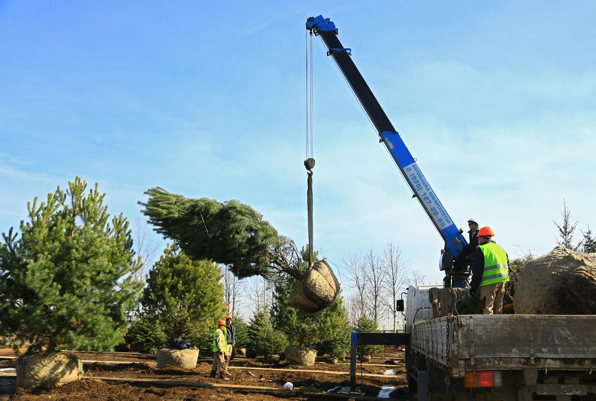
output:
[[[248,348],[257,355],[280,353],[288,346],[288,338],[283,332],[273,328],[269,313],[264,309],[254,312],[249,322],[248,334]]]

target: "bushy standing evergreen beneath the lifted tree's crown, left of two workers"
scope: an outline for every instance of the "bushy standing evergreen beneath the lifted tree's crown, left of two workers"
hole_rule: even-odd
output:
[[[221,270],[207,260],[191,260],[168,245],[147,277],[144,313],[155,316],[167,337],[182,337],[207,347],[224,315]]]

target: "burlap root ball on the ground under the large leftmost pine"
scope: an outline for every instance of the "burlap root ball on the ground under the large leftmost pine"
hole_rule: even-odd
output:
[[[55,388],[79,380],[83,362],[64,352],[21,355],[17,358],[17,387]]]

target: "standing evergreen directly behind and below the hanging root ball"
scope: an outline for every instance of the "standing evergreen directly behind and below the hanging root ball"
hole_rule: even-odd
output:
[[[303,260],[308,259],[308,247],[302,249]],[[318,258],[317,252],[314,259]],[[306,263],[301,264],[306,269]],[[321,354],[343,359],[350,349],[351,328],[347,310],[340,295],[324,310],[308,313],[290,306],[290,294],[297,282],[278,283],[275,286],[271,319],[275,328],[285,335],[291,344],[314,348]]]

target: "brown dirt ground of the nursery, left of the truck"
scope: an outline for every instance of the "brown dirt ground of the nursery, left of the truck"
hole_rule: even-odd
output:
[[[191,383],[222,384],[218,379],[209,377],[211,363],[208,357],[199,357],[197,367],[194,369],[165,368],[157,369],[154,365],[155,356],[151,354],[117,354],[117,353],[76,353],[85,360],[122,361],[122,364],[108,364],[104,362],[84,363],[83,370],[85,380],[64,385],[51,391],[25,391],[19,389],[14,392],[14,383],[10,378],[5,378],[4,396],[0,394],[0,401],[4,400],[67,400],[67,399],[105,399],[105,400],[325,400],[338,399],[337,397],[325,396],[322,391],[330,390],[336,386],[344,387],[349,385],[349,362],[344,361],[337,365],[330,363],[316,363],[315,366],[292,366],[285,362],[277,365],[265,363],[263,360],[247,359],[238,357],[231,362],[231,381],[226,384],[247,385],[268,388],[283,388],[287,381],[293,383],[296,390],[312,391],[318,393],[316,396],[309,394],[291,393],[289,391],[269,391],[263,393],[260,390],[239,390],[224,388],[189,388],[171,387],[159,388],[150,387],[156,384],[118,383],[110,384],[105,381],[98,381],[94,378],[128,378],[145,380],[166,380],[184,381]],[[371,360],[371,364],[362,366],[365,374],[383,374],[387,369],[393,369],[395,375],[385,377],[360,377],[358,376],[358,387],[363,386],[367,396],[377,396],[384,385],[395,385],[396,391],[390,394],[392,398],[405,399],[406,377],[403,366],[403,352],[383,353]],[[14,366],[14,360],[0,360],[0,368]],[[247,368],[264,368],[247,369]],[[277,368],[277,370],[276,370]],[[358,368],[360,366],[358,365]],[[287,369],[287,370],[279,370]],[[296,372],[295,370],[306,371],[332,371],[343,374],[331,374],[321,372]],[[8,380],[8,381],[7,381]],[[139,387],[142,386],[142,387]],[[0,390],[1,391],[1,390]],[[7,394],[8,393],[8,394]],[[11,394],[11,395],[9,395]]]

